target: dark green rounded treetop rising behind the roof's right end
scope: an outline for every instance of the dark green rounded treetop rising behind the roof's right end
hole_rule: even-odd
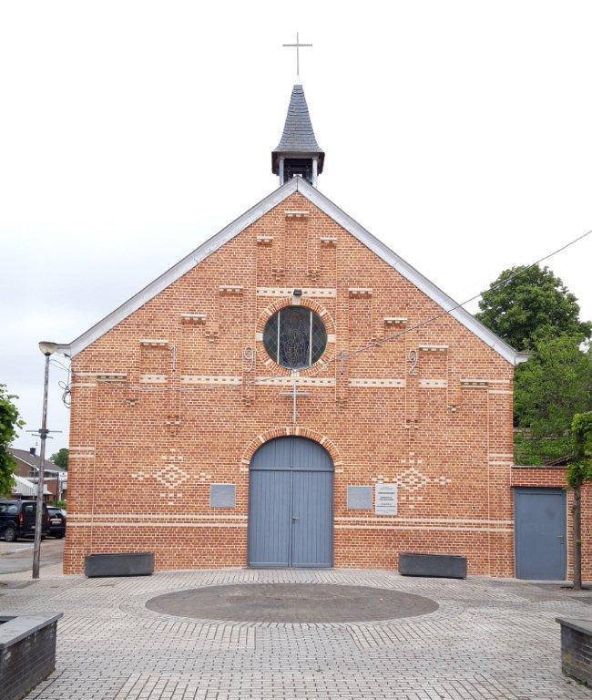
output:
[[[579,320],[574,294],[547,267],[513,267],[490,285],[476,317],[516,350],[558,335],[592,335],[592,324]]]

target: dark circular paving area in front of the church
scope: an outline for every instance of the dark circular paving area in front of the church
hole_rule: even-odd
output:
[[[353,623],[434,612],[438,603],[412,593],[333,583],[240,583],[158,595],[146,607],[196,619],[246,623]]]

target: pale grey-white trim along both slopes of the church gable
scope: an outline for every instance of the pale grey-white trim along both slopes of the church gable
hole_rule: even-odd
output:
[[[64,355],[74,357],[81,353],[88,345],[94,343],[101,335],[105,335],[117,324],[121,323],[128,315],[137,311],[140,306],[146,304],[150,299],[158,293],[166,289],[170,284],[174,283],[179,277],[205,260],[213,252],[216,252],[225,243],[231,241],[235,236],[243,232],[248,226],[255,221],[258,221],[268,211],[290,197],[295,191],[300,191],[301,195],[312,204],[317,206],[321,211],[324,211],[327,216],[330,216],[333,221],[338,223],[347,232],[352,233],[360,242],[367,248],[378,255],[384,262],[391,265],[398,273],[413,283],[418,289],[429,296],[436,304],[442,306],[444,311],[450,311],[454,318],[463,324],[466,328],[477,335],[486,345],[493,348],[499,355],[505,358],[510,364],[518,365],[528,359],[525,353],[518,353],[514,348],[507,345],[495,333],[490,331],[481,324],[476,318],[459,307],[454,309],[456,302],[439,289],[434,283],[431,283],[423,274],[417,272],[408,262],[399,257],[390,248],[384,245],[373,236],[372,233],[366,231],[357,221],[348,216],[338,206],[328,200],[319,190],[312,187],[306,180],[301,178],[292,178],[285,182],[281,188],[271,192],[264,200],[246,211],[235,221],[232,221],[228,226],[222,229],[216,235],[212,236],[208,241],[202,243],[195,251],[190,252],[185,258],[180,260],[176,265],[173,265],[166,273],[161,274],[154,282],[148,284],[140,292],[128,299],[127,302],[121,304],[114,312],[108,314],[104,319],[89,328],[86,333],[78,336],[76,340],[69,345],[59,345],[58,352]],[[451,309],[453,309],[451,311]]]

